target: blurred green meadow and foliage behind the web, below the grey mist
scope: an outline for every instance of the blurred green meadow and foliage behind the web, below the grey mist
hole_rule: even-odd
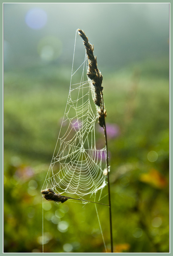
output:
[[[68,74],[68,75],[67,75]],[[114,252],[169,252],[169,60],[103,74]],[[94,204],[42,201],[70,71],[4,74],[4,252],[105,252]],[[97,206],[110,251],[109,212]]]

